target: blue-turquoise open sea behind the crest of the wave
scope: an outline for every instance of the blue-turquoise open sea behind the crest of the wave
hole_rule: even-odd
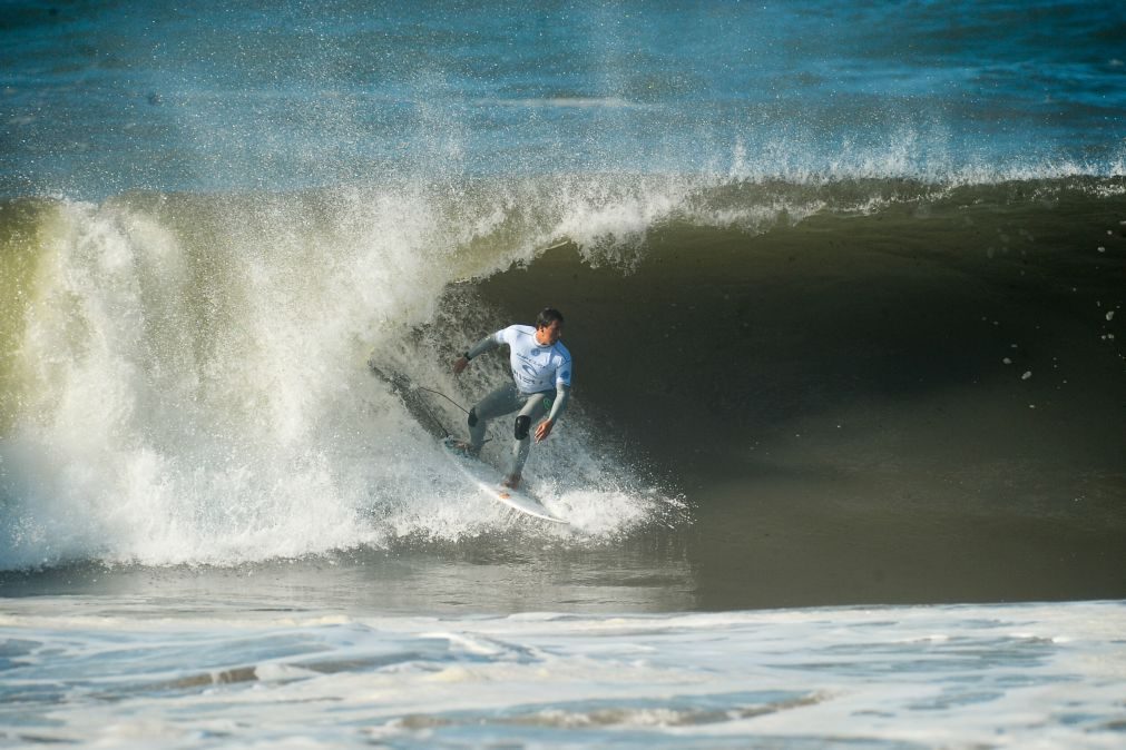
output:
[[[5,13],[9,196],[403,173],[1108,174],[1126,137],[1116,2]]]

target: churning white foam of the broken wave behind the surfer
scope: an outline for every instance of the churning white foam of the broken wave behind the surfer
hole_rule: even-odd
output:
[[[43,208],[6,385],[0,566],[234,563],[494,525],[500,510],[465,501],[367,352],[456,394],[438,349],[410,335],[435,322],[452,346],[480,335],[439,310],[450,282],[528,260],[545,237],[628,234],[665,210],[577,200],[545,224],[519,204],[477,210],[405,186]],[[475,245],[498,235],[510,238]],[[573,423],[540,462],[572,533],[643,519],[650,500],[607,480]]]

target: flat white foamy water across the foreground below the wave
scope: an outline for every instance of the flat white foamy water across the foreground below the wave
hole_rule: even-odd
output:
[[[0,715],[12,741],[1112,748],[1121,740],[1121,603],[203,620],[148,620],[143,608],[97,614],[128,611],[113,597],[9,604],[0,618],[10,665]]]

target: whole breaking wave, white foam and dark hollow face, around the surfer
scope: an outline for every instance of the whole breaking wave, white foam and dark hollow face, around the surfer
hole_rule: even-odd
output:
[[[940,509],[1119,544],[1124,192],[596,175],[9,201],[0,564],[494,527],[365,362],[467,405],[503,358],[448,362],[545,302],[577,398],[529,476],[574,519],[563,543],[683,524],[681,500],[706,526],[820,498],[831,523],[855,493],[897,508],[875,535],[935,543]]]

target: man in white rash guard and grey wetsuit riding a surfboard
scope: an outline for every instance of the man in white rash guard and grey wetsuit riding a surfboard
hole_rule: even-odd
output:
[[[562,335],[563,314],[545,307],[536,318],[536,327],[511,325],[501,328],[475,343],[454,362],[454,374],[461,374],[470,360],[501,344],[509,346],[512,382],[492,391],[470,409],[470,442],[462,444],[467,453],[476,455],[485,442],[489,421],[519,410],[512,466],[501,482],[504,487],[516,489],[520,485],[524,463],[531,450],[528,433],[533,421],[547,415],[535,433],[537,443],[546,440],[571,397],[571,352],[560,342]]]

